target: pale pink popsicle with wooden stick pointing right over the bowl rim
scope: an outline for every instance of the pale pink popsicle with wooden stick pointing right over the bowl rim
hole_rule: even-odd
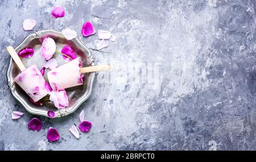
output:
[[[53,90],[63,90],[65,88],[82,85],[84,77],[82,73],[109,69],[110,66],[108,64],[81,68],[80,58],[77,57],[64,65],[49,71],[47,76],[49,84]]]

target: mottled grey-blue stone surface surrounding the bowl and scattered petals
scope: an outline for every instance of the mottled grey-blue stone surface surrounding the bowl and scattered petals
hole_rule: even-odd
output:
[[[64,18],[51,18],[56,5],[65,8]],[[0,0],[0,149],[255,150],[255,11],[254,0]],[[40,132],[27,129],[37,116],[6,85],[6,47],[33,32],[23,31],[27,18],[36,20],[33,31],[72,28],[88,47],[98,39],[82,37],[87,20],[117,36],[104,49],[112,53],[92,51],[96,63],[115,60],[112,81],[98,74],[88,101],[67,117],[38,117]],[[158,66],[154,88],[122,77],[144,64]],[[93,127],[77,140],[68,129],[79,123],[82,109]],[[17,121],[15,110],[24,112]],[[60,132],[57,143],[46,139],[50,126]]]

